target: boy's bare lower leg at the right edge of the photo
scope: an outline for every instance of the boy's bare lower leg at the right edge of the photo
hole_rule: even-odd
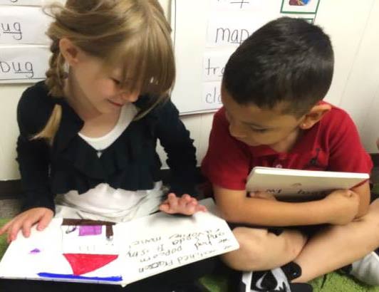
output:
[[[379,246],[379,200],[370,204],[368,214],[344,226],[326,227],[309,239],[294,260],[301,276],[294,282],[307,282],[353,263]]]

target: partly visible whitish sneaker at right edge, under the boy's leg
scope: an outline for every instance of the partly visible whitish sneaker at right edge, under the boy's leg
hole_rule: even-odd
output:
[[[368,285],[379,285],[379,249],[370,252],[363,259],[343,268],[348,274]]]

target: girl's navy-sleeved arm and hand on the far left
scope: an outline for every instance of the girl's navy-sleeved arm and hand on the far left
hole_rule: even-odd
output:
[[[19,230],[28,237],[34,224],[43,230],[53,218],[53,195],[48,186],[49,148],[43,140],[31,140],[41,130],[48,114],[37,98],[30,89],[26,90],[17,108],[20,135],[16,150],[25,211],[0,229],[0,234],[8,233],[8,242],[16,239]]]

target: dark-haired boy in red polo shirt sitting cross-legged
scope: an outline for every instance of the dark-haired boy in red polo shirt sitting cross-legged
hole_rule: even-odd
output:
[[[246,194],[255,166],[370,173],[353,121],[322,101],[332,76],[330,39],[301,19],[269,22],[229,58],[202,170],[240,244],[223,256],[245,271],[240,291],[291,291],[379,246],[368,182],[312,202]]]

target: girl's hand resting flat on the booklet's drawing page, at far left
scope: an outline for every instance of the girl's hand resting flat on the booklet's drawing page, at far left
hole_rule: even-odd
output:
[[[48,226],[53,216],[53,211],[48,208],[38,207],[28,209],[5,224],[0,229],[0,235],[5,232],[8,233],[7,241],[10,243],[16,239],[19,230],[22,229],[22,234],[28,237],[30,235],[31,226],[38,223],[37,230],[42,231]]]

